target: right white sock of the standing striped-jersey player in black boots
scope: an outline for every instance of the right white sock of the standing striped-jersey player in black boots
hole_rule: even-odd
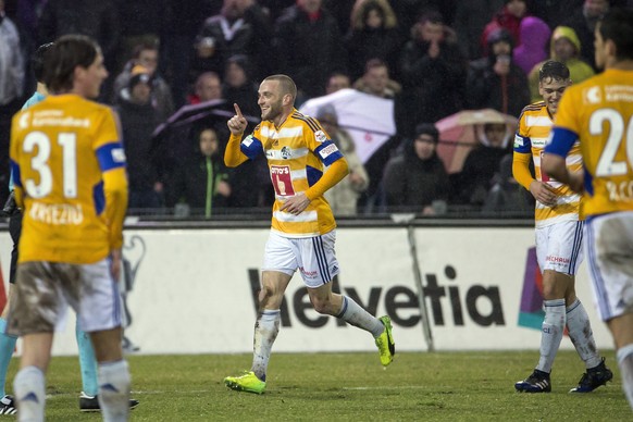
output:
[[[599,365],[600,356],[594,340],[589,315],[579,299],[567,308],[567,330],[585,367],[591,369]]]

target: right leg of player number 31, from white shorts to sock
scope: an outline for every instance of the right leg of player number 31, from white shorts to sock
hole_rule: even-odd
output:
[[[98,362],[98,400],[107,421],[127,420],[129,413],[131,375],[123,358],[122,307],[119,283],[110,273],[110,260],[78,265],[83,296],[77,318],[90,333]]]

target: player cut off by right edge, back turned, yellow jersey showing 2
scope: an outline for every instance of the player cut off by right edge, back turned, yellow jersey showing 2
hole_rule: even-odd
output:
[[[592,286],[633,408],[633,11],[607,13],[596,26],[595,47],[605,72],[564,94],[543,165],[585,191]],[[566,160],[579,140],[584,171],[574,172]]]

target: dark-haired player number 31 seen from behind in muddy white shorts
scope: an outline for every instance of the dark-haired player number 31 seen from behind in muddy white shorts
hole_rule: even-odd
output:
[[[23,337],[17,417],[44,420],[53,331],[71,305],[95,346],[103,419],[123,421],[131,386],[117,293],[125,154],[114,113],[88,100],[108,72],[99,46],[85,36],[61,37],[45,61],[50,95],[17,113],[11,132],[15,200],[24,212],[8,321],[9,333]]]

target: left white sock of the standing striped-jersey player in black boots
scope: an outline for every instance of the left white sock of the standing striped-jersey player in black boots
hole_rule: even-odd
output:
[[[544,300],[545,320],[541,332],[541,359],[537,370],[550,373],[564,331],[564,299]]]

